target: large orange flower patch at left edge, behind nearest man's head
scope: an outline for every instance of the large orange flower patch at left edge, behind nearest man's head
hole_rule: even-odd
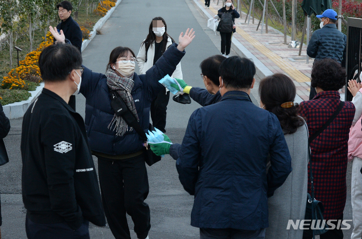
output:
[[[40,83],[42,80],[38,66],[39,56],[42,50],[51,44],[53,44],[53,36],[48,32],[47,40],[40,43],[35,51],[29,52],[24,60],[19,61],[19,67],[12,69],[3,77],[1,88],[28,90],[29,83],[26,81]]]

